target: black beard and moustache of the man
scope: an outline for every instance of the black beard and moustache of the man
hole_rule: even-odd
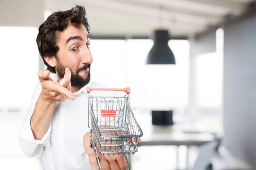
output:
[[[65,68],[68,68],[68,67],[61,65],[61,63],[58,60],[57,60],[57,65],[58,65],[58,67],[57,66],[55,67],[56,73],[60,79],[63,79],[64,74],[65,74]],[[85,70],[87,68],[88,68],[87,77],[86,77],[86,79],[83,79],[82,77],[80,77],[78,75],[78,72],[81,70]],[[71,69],[70,69],[70,71],[71,71]],[[76,87],[84,87],[85,85],[87,85],[90,82],[90,64],[86,64],[83,67],[79,68],[76,71],[76,74],[71,72],[70,82],[71,82],[71,86],[76,86]]]

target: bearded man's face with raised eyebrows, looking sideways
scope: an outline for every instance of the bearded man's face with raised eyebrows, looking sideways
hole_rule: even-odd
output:
[[[72,76],[72,86],[83,87],[90,82],[90,64],[93,62],[90,52],[90,38],[86,28],[68,24],[68,27],[57,35],[59,51],[57,53],[55,70],[59,79],[69,68]]]

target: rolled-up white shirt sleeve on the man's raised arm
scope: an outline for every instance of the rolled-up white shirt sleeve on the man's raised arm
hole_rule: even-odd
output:
[[[32,99],[29,105],[29,111],[25,117],[23,124],[20,127],[18,138],[20,142],[20,147],[23,152],[29,156],[36,156],[43,147],[47,147],[50,144],[50,133],[51,125],[49,126],[47,133],[41,140],[36,140],[31,129],[30,119],[35,110],[35,105],[38,100],[38,97],[42,91],[41,83],[39,82],[33,91]]]

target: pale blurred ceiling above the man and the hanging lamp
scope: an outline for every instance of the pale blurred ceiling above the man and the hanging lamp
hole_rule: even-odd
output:
[[[46,0],[50,11],[84,5],[93,36],[147,37],[166,28],[174,37],[190,36],[239,16],[253,0]]]

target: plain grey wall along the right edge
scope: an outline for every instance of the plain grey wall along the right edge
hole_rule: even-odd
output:
[[[256,168],[256,15],[224,28],[224,145]]]

